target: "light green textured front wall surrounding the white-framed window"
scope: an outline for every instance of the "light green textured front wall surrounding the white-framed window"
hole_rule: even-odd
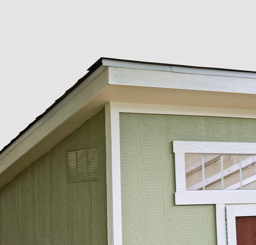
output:
[[[120,114],[123,244],[216,244],[214,205],[175,206],[173,140],[256,141],[256,120]]]

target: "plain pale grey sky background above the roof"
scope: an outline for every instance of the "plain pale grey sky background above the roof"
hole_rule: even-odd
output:
[[[0,149],[100,57],[256,71],[255,5],[0,1]]]

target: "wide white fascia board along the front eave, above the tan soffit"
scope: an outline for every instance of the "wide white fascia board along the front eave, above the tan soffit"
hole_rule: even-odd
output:
[[[150,88],[256,94],[256,77],[222,77],[220,75],[127,69],[127,67],[109,67],[109,83]]]

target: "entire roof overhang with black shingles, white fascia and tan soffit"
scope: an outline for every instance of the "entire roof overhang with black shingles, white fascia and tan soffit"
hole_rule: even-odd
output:
[[[256,112],[256,73],[101,58],[0,155],[0,187],[108,102],[228,107]]]

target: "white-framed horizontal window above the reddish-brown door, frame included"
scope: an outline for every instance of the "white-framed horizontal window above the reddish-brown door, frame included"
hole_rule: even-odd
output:
[[[179,204],[256,203],[256,143],[173,141]]]

